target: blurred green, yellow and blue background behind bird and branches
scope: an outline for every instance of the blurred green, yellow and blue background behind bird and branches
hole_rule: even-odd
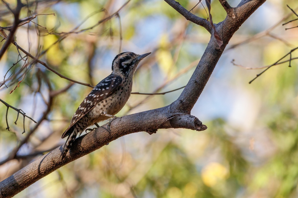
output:
[[[19,27],[18,45],[34,56],[46,50],[40,60],[64,76],[91,85],[110,74],[114,56],[132,51],[152,52],[134,75],[134,92],[180,88],[187,84],[210,38],[204,28],[185,20],[162,0],[131,0],[119,15],[100,24],[125,1],[27,2],[32,6],[22,10],[21,18],[32,13],[55,15],[39,15],[32,20],[35,23]],[[239,3],[228,2],[233,7]],[[191,10],[198,1],[179,3]],[[282,26],[297,18],[287,4],[298,10],[295,0],[265,2],[232,37],[192,110],[207,130],[129,134],[61,167],[15,197],[298,197],[297,61],[291,61],[291,67],[289,62],[273,66],[248,83],[263,70],[251,68],[273,64],[297,47],[298,28],[285,28],[298,22]],[[208,18],[203,5],[192,12]],[[220,3],[212,1],[211,6],[213,21],[224,20]],[[13,17],[2,2],[0,13],[0,26],[12,25]],[[292,53],[292,58],[297,56]],[[19,59],[11,45],[0,61],[0,76],[8,71],[5,80],[11,74],[12,78],[0,88],[0,97],[38,121],[49,107],[49,87],[60,90],[70,81],[41,64],[28,64],[26,72],[24,61],[13,65]],[[242,67],[232,64],[233,59]],[[132,94],[117,116],[168,105],[181,90],[155,96]],[[64,144],[61,135],[89,91],[90,87],[74,84],[54,97],[46,119],[18,150],[18,159],[0,166],[0,180]],[[36,125],[25,118],[22,134],[23,116],[15,125],[17,112],[10,108],[7,131],[6,110],[0,103],[0,161]]]

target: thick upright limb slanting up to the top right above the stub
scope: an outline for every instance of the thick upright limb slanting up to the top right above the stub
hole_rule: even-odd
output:
[[[209,41],[198,66],[193,72],[192,77],[188,81],[179,98],[174,102],[174,104],[178,105],[179,110],[185,110],[185,112],[190,112],[192,110],[206,83],[208,82],[218,59],[233,34],[265,1],[266,0],[252,0],[243,4],[241,7],[236,7],[233,16],[227,15],[225,20],[216,26],[218,34],[223,40],[223,45],[220,48],[217,48],[215,38],[211,37],[211,40]]]

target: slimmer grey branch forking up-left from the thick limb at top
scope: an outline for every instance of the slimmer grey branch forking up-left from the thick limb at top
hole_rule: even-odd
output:
[[[204,27],[207,31],[211,33],[212,27],[209,21],[207,21],[204,18],[198,17],[194,15],[193,13],[189,12],[187,9],[185,9],[183,6],[181,6],[177,1],[174,0],[164,0],[169,4],[171,7],[176,9],[177,12],[179,12],[182,16],[184,16],[187,20]]]

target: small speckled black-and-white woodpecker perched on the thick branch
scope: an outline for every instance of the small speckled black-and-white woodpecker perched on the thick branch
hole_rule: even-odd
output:
[[[89,126],[95,124],[99,127],[98,122],[108,119],[109,129],[111,122],[117,118],[115,114],[128,101],[136,67],[150,53],[139,55],[133,52],[123,52],[114,58],[112,73],[100,81],[86,96],[72,116],[69,127],[63,133],[61,138],[68,137],[61,152],[62,160],[76,137],[80,136]]]

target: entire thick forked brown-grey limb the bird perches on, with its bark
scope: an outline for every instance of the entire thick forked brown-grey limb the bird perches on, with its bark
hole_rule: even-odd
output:
[[[106,145],[108,142],[116,140],[126,134],[141,131],[153,134],[156,133],[158,129],[167,128],[185,128],[197,131],[207,129],[198,118],[190,115],[190,111],[202,93],[218,59],[232,35],[266,0],[243,0],[239,3],[238,7],[234,8],[231,8],[226,1],[219,0],[227,12],[225,20],[215,24],[215,28],[224,43],[220,48],[218,48],[217,42],[213,36],[211,26],[206,23],[205,19],[196,17],[190,12],[185,12],[185,9],[176,1],[165,1],[187,20],[191,20],[211,32],[211,39],[207,48],[179,98],[166,107],[117,118],[111,123],[111,131],[108,131],[106,125],[104,125],[79,137],[62,161],[60,158],[62,146],[41,156],[9,178],[3,180],[0,183],[0,197],[12,197],[63,165],[91,153]]]

